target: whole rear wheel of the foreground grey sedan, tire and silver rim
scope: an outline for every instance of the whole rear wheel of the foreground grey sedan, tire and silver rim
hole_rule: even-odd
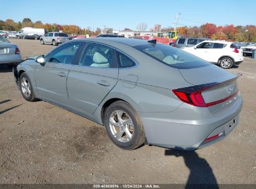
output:
[[[144,144],[143,124],[130,104],[124,101],[111,104],[103,122],[111,141],[121,149],[133,150]]]

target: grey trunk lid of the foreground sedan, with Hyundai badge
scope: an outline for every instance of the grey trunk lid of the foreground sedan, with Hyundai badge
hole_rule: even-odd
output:
[[[217,85],[201,92],[206,104],[219,102],[208,107],[212,113],[216,113],[234,103],[237,92],[239,91],[237,78],[240,75],[230,73],[216,65],[182,69],[179,71],[181,72],[181,75],[183,75],[183,78],[192,85],[217,83]]]

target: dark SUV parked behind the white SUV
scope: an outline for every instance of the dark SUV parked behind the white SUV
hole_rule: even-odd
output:
[[[197,45],[201,43],[204,40],[209,40],[206,38],[197,38],[197,37],[179,37],[174,47],[181,48],[181,47],[193,47],[194,45]]]

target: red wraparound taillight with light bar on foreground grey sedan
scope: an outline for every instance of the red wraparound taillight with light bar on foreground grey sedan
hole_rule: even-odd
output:
[[[223,98],[211,103],[206,103],[204,101],[204,98],[202,97],[202,91],[209,90],[209,88],[212,88],[217,85],[219,85],[219,83],[214,82],[214,83],[207,83],[204,85],[196,85],[196,86],[189,86],[185,88],[179,88],[172,91],[184,103],[191,104],[193,106],[198,106],[198,107],[209,107],[209,106],[214,106],[216,104],[223,103],[224,101],[227,101],[228,99],[237,95],[237,93],[239,92],[239,91],[236,91],[235,93],[233,93],[232,95],[226,98]]]

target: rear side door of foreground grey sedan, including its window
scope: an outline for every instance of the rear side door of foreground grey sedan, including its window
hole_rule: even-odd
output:
[[[82,56],[71,65],[67,79],[70,106],[93,114],[118,80],[115,50],[88,43]]]

